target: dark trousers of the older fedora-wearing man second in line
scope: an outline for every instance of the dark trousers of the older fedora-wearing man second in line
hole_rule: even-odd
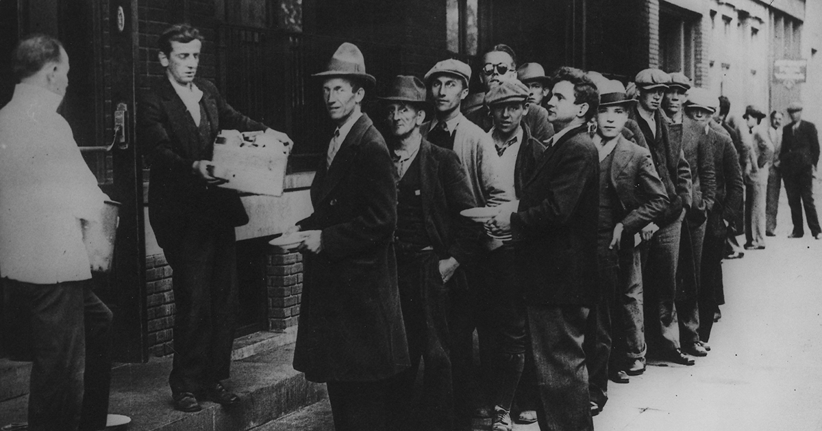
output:
[[[411,367],[391,379],[399,417],[411,424],[411,394],[419,369],[423,369],[423,415],[425,429],[453,429],[454,390],[451,383],[448,291],[453,282],[443,284],[440,259],[433,251],[397,252],[399,300],[408,337]]]

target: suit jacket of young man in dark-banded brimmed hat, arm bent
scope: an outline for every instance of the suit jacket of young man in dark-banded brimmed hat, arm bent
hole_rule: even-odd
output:
[[[619,212],[626,214],[621,220],[624,232],[633,240],[636,232],[663,216],[668,204],[667,192],[653,167],[650,151],[625,136],[620,135],[618,139],[609,181],[617,190]]]

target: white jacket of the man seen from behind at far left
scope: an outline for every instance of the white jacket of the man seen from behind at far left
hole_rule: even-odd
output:
[[[91,277],[81,218],[106,195],[57,113],[62,96],[18,84],[0,109],[0,276],[54,284]]]

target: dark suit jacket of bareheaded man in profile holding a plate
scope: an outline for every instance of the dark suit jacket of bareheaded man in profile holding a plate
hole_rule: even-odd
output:
[[[594,305],[599,157],[587,126],[545,150],[511,214],[516,273],[529,302]]]

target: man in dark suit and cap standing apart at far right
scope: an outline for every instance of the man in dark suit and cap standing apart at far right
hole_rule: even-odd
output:
[[[791,124],[783,127],[779,164],[793,221],[793,232],[788,237],[801,238],[805,235],[805,226],[802,222],[804,208],[810,235],[818,240],[822,230],[814,205],[813,177],[816,164],[820,160],[819,135],[814,123],[802,120],[801,104],[791,103],[787,107],[787,115],[791,117]]]

